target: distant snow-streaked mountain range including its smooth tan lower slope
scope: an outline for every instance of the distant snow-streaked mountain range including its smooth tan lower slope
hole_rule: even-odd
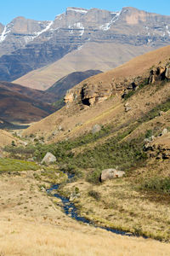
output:
[[[106,71],[169,44],[169,26],[169,16],[131,7],[120,12],[67,8],[53,21],[17,17],[0,26],[0,80],[41,68],[16,82],[46,90],[75,71]]]

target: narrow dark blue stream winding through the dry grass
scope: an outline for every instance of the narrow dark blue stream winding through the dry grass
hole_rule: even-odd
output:
[[[73,174],[68,174],[67,173],[67,176],[69,178],[69,180],[71,180],[71,177],[74,177]],[[47,189],[47,192],[48,193],[51,193],[53,190],[57,190],[59,189],[59,184],[54,184],[50,189]],[[100,228],[102,230],[107,230],[107,231],[111,231],[112,233],[115,233],[117,235],[122,235],[122,236],[138,236],[136,234],[133,234],[133,233],[129,233],[129,232],[126,232],[126,231],[122,231],[122,230],[115,230],[115,229],[112,229],[112,228],[108,228],[108,227],[102,227],[102,226],[99,226],[97,224],[94,224],[94,222],[90,221],[88,218],[84,218],[82,216],[80,216],[77,212],[77,207],[75,207],[74,203],[71,202],[69,200],[69,198],[67,197],[64,197],[62,195],[59,195],[58,193],[54,194],[54,197],[57,197],[59,198],[62,203],[63,203],[63,209],[64,209],[64,212],[66,215],[68,215],[69,217],[71,218],[74,218],[76,219],[77,221],[80,221],[84,224],[90,224],[92,226],[94,226],[95,228]],[[143,236],[144,238],[147,238],[146,236]]]

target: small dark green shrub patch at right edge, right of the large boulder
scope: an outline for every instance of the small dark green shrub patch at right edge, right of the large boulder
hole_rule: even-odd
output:
[[[170,177],[146,178],[140,183],[139,189],[170,194]]]

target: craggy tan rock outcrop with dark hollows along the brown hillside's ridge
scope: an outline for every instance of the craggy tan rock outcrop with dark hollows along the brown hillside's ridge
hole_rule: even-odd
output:
[[[102,81],[94,83],[93,80],[85,80],[83,84],[78,84],[75,88],[67,91],[65,103],[79,102],[82,105],[92,106],[94,103],[103,102],[111,96],[119,95],[124,98],[131,91],[138,90],[139,87],[168,79],[170,79],[169,63],[153,67],[150,72],[135,78],[112,78],[110,83],[109,81],[107,83],[102,83]],[[127,106],[125,107],[127,109]]]

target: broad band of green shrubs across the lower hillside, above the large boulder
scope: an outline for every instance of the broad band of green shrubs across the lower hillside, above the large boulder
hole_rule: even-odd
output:
[[[57,158],[60,171],[75,173],[78,178],[85,176],[84,170],[94,170],[93,172],[86,172],[86,178],[90,183],[99,183],[100,172],[105,168],[119,166],[120,169],[129,171],[134,166],[144,163],[146,159],[146,154],[143,151],[144,135],[130,142],[122,142],[122,139],[127,137],[136,128],[136,125],[138,124],[119,127],[120,132],[116,133],[116,137],[107,139],[105,143],[92,149],[88,149],[88,143],[94,143],[99,138],[107,137],[114,133],[116,131],[114,126],[102,127],[101,131],[95,134],[90,132],[74,140],[48,145],[37,144],[28,148],[8,147],[8,151],[16,153],[22,150],[22,154],[31,152],[37,160],[42,160],[47,152],[51,152]],[[87,146],[82,153],[74,154],[72,152],[73,148],[78,148],[82,145]],[[48,175],[51,177],[50,173]]]

